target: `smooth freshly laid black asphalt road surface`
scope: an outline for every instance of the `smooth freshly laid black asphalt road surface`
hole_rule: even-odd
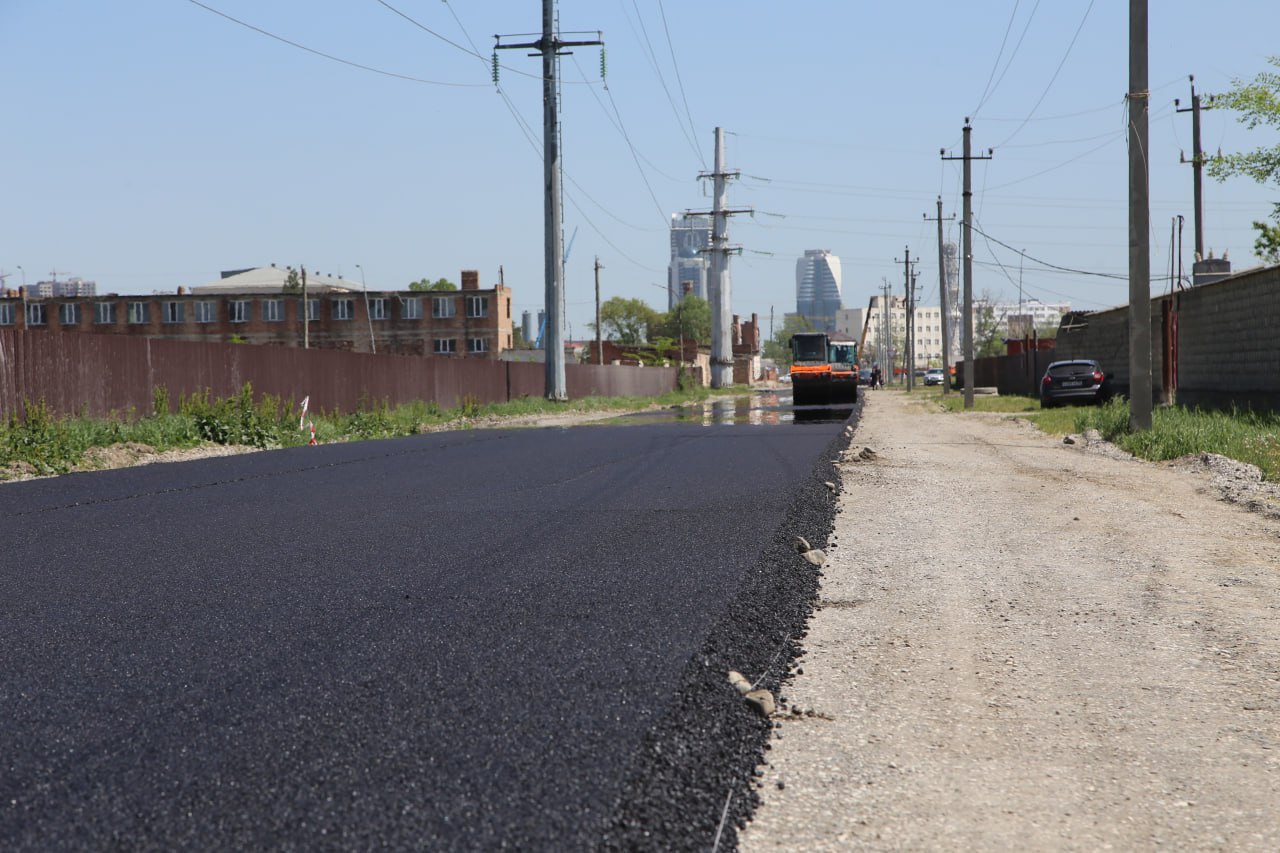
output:
[[[454,432],[0,487],[0,847],[593,848],[840,429]]]

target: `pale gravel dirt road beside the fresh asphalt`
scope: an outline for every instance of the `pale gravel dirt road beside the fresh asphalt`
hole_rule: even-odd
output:
[[[741,849],[1280,850],[1280,521],[867,397]]]

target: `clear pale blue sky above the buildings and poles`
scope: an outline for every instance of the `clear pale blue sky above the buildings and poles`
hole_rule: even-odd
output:
[[[861,307],[902,259],[937,305],[937,225],[961,209],[972,118],[975,295],[1074,309],[1128,300],[1120,0],[561,0],[566,316],[603,298],[666,310],[672,214],[708,210],[714,128],[732,310],[765,334],[795,310],[805,250],[841,259]],[[1272,70],[1280,4],[1153,0],[1152,292],[1175,220],[1193,254],[1189,74],[1202,95]],[[543,306],[540,0],[0,0],[0,274],[173,292],[268,264],[403,289],[480,270],[517,318]],[[524,36],[521,33],[525,33]],[[507,37],[512,36],[512,37]],[[1225,109],[1207,151],[1276,143]],[[1256,265],[1251,223],[1280,187],[1204,178],[1206,246]],[[945,223],[956,240],[956,220]],[[1023,255],[1019,254],[1019,250]],[[1064,272],[1069,268],[1079,272]],[[499,273],[500,270],[500,273]]]

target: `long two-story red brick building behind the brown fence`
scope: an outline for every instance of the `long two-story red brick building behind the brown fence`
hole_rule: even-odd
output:
[[[365,292],[340,277],[310,275],[305,297],[287,289],[291,272],[239,270],[173,295],[10,291],[0,297],[0,327],[457,357],[497,357],[513,343],[511,288],[481,289],[476,270],[462,270],[458,291]]]

